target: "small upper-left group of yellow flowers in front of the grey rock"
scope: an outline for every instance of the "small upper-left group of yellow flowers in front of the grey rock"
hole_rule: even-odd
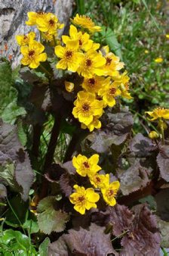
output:
[[[63,24],[60,24],[57,17],[51,13],[32,11],[28,12],[28,17],[29,20],[26,21],[26,24],[36,26],[40,31],[41,38],[50,42],[56,39],[57,30],[63,28]],[[34,32],[18,35],[16,39],[18,45],[20,45],[20,52],[23,55],[21,64],[30,68],[37,68],[40,62],[47,60],[47,54],[44,52],[45,46],[41,42],[35,41]]]

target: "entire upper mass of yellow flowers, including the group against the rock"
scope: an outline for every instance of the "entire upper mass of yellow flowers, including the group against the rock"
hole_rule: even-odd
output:
[[[21,64],[30,68],[40,65],[41,70],[45,70],[41,64],[47,61],[43,42],[54,46],[56,68],[78,73],[82,80],[74,101],[73,116],[81,123],[81,129],[88,128],[90,132],[100,129],[104,108],[113,107],[118,96],[132,98],[128,74],[126,71],[120,73],[124,63],[109,51],[108,45],[101,47],[91,38],[95,32],[100,32],[101,27],[96,26],[90,17],[76,14],[71,19],[73,24],[70,25],[69,36],[58,39],[57,31],[63,28],[63,24],[54,14],[29,12],[28,18],[26,24],[37,27],[41,42],[35,41],[34,32],[16,37],[23,54]],[[74,87],[75,83],[65,81],[67,92],[72,92]]]

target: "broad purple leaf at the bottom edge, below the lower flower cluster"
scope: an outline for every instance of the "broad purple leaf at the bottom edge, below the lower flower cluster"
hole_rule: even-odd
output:
[[[92,223],[89,229],[70,229],[69,234],[63,235],[49,245],[48,255],[107,255],[118,253],[112,248],[109,234],[104,228]]]

